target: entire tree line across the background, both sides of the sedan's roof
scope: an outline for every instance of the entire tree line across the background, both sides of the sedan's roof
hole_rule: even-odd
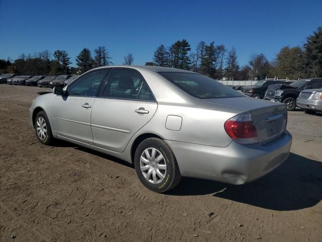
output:
[[[65,50],[48,50],[34,54],[21,54],[11,61],[0,59],[0,73],[20,73],[26,75],[62,75],[84,73],[95,67],[113,65],[112,57],[105,46],[99,46],[93,52],[84,48],[76,59],[77,68],[70,67],[70,57]],[[123,65],[132,65],[132,53],[124,56]],[[201,73],[221,80],[255,80],[266,77],[298,78],[322,77],[322,27],[306,38],[303,46],[284,46],[272,61],[263,53],[253,54],[248,64],[238,64],[237,51],[229,50],[223,44],[214,41],[200,41],[192,50],[186,39],[178,40],[171,46],[159,45],[153,54],[153,62],[146,65],[179,68]]]

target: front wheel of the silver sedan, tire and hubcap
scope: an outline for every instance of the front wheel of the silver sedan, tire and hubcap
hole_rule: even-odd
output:
[[[48,117],[44,111],[37,113],[34,123],[36,136],[40,143],[50,145],[54,142]]]

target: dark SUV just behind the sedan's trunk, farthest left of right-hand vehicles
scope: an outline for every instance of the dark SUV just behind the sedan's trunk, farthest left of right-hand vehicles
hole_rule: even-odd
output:
[[[241,91],[244,92],[245,95],[249,97],[254,98],[260,98],[263,99],[265,96],[265,92],[267,88],[270,85],[274,84],[291,84],[292,82],[286,82],[286,81],[274,81],[274,80],[260,80],[257,83],[254,84],[254,86],[246,86],[244,89],[241,89]]]

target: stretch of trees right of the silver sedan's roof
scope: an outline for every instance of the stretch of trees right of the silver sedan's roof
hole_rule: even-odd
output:
[[[322,77],[322,27],[306,38],[303,46],[284,46],[269,61],[263,53],[253,54],[247,65],[239,66],[235,48],[200,41],[194,50],[186,39],[169,47],[161,44],[154,51],[151,65],[179,68],[221,80],[258,80],[266,77]]]

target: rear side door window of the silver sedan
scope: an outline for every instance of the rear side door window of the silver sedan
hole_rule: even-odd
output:
[[[137,72],[130,70],[113,70],[102,96],[109,98],[153,100],[141,76]]]

